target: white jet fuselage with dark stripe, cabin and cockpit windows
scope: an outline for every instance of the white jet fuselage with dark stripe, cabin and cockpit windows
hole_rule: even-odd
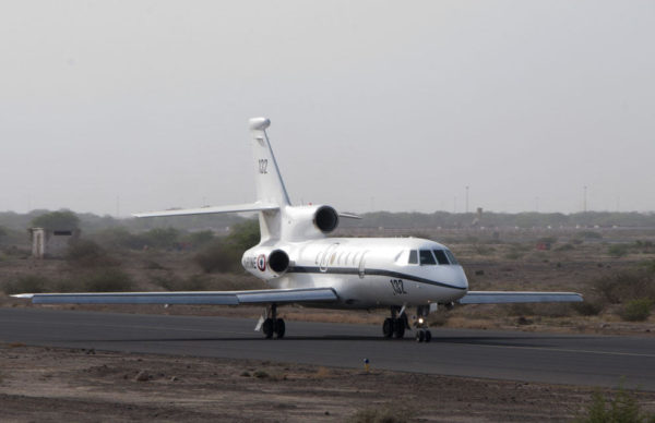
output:
[[[287,254],[285,269],[271,268],[272,251]],[[452,303],[466,294],[466,275],[454,257],[436,251],[452,257],[444,245],[422,239],[324,238],[260,244],[242,264],[271,288],[332,288],[343,309]]]

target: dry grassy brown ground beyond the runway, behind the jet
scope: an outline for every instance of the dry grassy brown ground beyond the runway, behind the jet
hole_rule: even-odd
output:
[[[642,331],[652,325],[653,316],[640,323],[623,323],[620,318],[622,302],[631,299],[620,298],[621,303],[602,301],[598,280],[612,281],[616,275],[630,274],[641,263],[655,259],[655,249],[634,247],[621,257],[612,257],[607,245],[620,239],[630,245],[650,245],[655,240],[655,230],[644,231],[603,231],[603,238],[585,238],[579,233],[545,231],[515,231],[500,233],[496,239],[489,231],[450,231],[450,246],[466,269],[472,290],[526,290],[526,291],[575,291],[588,299],[587,304],[576,307],[567,304],[536,304],[529,306],[513,305],[468,305],[455,307],[431,316],[433,326],[497,328],[520,327],[534,330],[552,327],[557,330]],[[439,233],[431,233],[440,240]],[[539,238],[556,238],[551,249],[539,251],[536,241]],[[638,243],[639,241],[640,243]],[[205,274],[194,261],[194,254],[188,252],[160,251],[118,251],[112,256],[120,263],[118,269],[127,275],[133,290],[241,290],[264,289],[266,285],[259,279],[239,271],[236,274]],[[655,262],[652,262],[655,263]],[[75,280],[90,269],[80,269],[66,261],[34,261],[5,255],[0,262],[0,280],[14,281],[33,277],[33,288],[56,290],[66,288],[60,281]],[[93,271],[93,269],[91,269]],[[56,275],[56,276],[52,276]],[[40,279],[39,279],[40,278]],[[631,279],[632,280],[632,279]],[[27,283],[27,282],[25,282]],[[610,283],[618,287],[620,283]],[[27,287],[24,287],[27,288]],[[78,289],[74,288],[73,289]],[[614,289],[614,288],[612,288]],[[616,291],[616,290],[615,290]],[[627,290],[620,289],[620,292]],[[614,293],[607,291],[605,293]],[[607,295],[605,295],[607,297]],[[616,295],[615,295],[616,297]],[[614,299],[616,302],[616,299]],[[0,297],[5,306],[23,305],[24,302]],[[214,306],[78,306],[83,310],[114,310],[122,312],[224,315],[258,318],[262,307],[214,307]],[[303,309],[300,306],[281,307],[281,314],[289,321],[329,322],[381,325],[388,311],[335,311],[324,309]],[[413,310],[408,314],[414,313]],[[517,324],[525,317],[532,324]],[[603,326],[608,324],[606,326]]]

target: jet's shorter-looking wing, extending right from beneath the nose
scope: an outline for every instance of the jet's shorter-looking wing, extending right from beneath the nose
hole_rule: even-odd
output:
[[[576,303],[582,295],[575,292],[468,291],[460,304],[503,303]]]

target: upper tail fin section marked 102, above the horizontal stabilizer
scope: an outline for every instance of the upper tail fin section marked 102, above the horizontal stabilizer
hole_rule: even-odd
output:
[[[279,207],[289,206],[291,202],[266,135],[266,128],[271,125],[271,121],[266,118],[253,118],[249,123],[255,166],[257,201],[276,204]]]

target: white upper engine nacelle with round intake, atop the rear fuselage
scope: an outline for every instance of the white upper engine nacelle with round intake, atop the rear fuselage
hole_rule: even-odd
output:
[[[338,213],[331,206],[288,207],[282,230],[286,240],[322,238],[338,227]]]

